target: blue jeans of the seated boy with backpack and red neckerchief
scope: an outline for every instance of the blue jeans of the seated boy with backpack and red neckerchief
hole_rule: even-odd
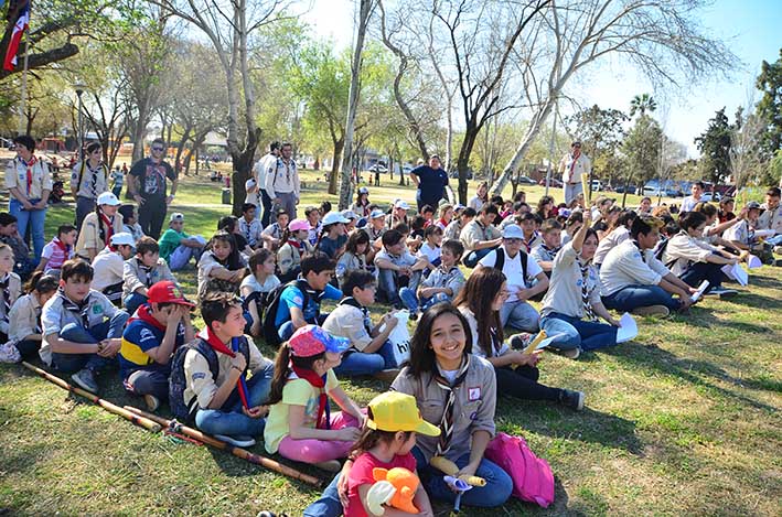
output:
[[[264,405],[269,400],[271,377],[275,365],[270,360],[247,381],[247,403],[250,408]],[[234,391],[219,409],[199,409],[195,413],[195,426],[207,434],[239,434],[258,437],[264,433],[265,418],[249,418],[242,412],[242,400],[238,391]]]

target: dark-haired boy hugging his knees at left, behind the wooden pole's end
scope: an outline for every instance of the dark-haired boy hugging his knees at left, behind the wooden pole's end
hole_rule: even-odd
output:
[[[95,375],[116,365],[128,313],[114,306],[101,292],[89,289],[93,267],[67,260],[60,290],[41,313],[41,359],[87,391],[97,392]]]

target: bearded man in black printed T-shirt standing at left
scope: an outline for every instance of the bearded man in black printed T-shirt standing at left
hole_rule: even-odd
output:
[[[128,190],[139,204],[139,225],[153,239],[160,237],[168,206],[176,193],[178,176],[173,168],[163,161],[165,141],[156,138],[150,148],[150,157],[139,160],[130,168]],[[165,195],[165,179],[171,180],[171,194]]]

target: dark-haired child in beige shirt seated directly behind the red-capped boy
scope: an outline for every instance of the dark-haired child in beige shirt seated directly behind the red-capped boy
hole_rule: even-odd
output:
[[[160,258],[158,241],[146,236],[136,243],[136,256],[125,262],[122,281],[122,301],[128,314],[147,303],[148,291],[157,282],[170,281],[176,284],[169,265]]]

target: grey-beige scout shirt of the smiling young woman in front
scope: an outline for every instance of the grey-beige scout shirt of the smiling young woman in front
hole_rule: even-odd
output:
[[[439,427],[446,408],[448,392],[424,374],[420,378],[410,375],[409,367],[403,368],[390,386],[394,391],[411,395],[418,402],[421,417],[427,422]],[[472,434],[486,431],[494,437],[494,411],[496,409],[496,377],[494,367],[486,359],[470,356],[467,378],[456,388],[453,407],[453,434],[446,457],[456,461],[470,452]],[[418,435],[418,446],[427,461],[437,452],[439,437]]]

